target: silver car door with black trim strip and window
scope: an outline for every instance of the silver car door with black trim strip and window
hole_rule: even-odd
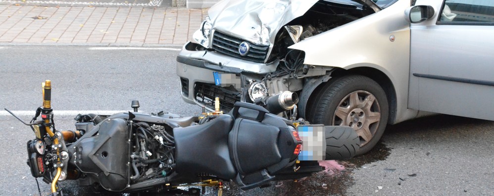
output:
[[[494,0],[417,0],[432,18],[411,24],[408,107],[494,120]]]

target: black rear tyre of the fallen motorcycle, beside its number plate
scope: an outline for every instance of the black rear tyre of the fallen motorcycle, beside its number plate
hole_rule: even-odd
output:
[[[359,149],[357,132],[348,126],[325,126],[326,160],[342,160],[354,157]]]

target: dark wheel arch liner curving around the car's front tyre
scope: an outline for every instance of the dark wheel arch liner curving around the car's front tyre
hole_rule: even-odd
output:
[[[304,114],[305,116],[303,118],[310,118],[310,116],[306,113],[306,109],[310,108],[311,104],[314,103],[315,97],[317,97],[317,94],[321,92],[322,88],[324,88],[325,85],[328,84],[328,82],[332,82],[334,79],[333,78],[340,78],[343,76],[347,75],[361,75],[365,76],[368,78],[371,78],[372,80],[376,81],[381,88],[386,93],[386,97],[388,99],[388,105],[389,105],[389,117],[388,117],[388,123],[393,123],[396,119],[396,112],[397,112],[397,98],[396,98],[396,90],[395,86],[393,85],[393,82],[391,79],[382,71],[376,69],[376,68],[371,68],[371,67],[356,67],[352,69],[342,69],[342,68],[335,68],[335,70],[331,71],[331,73],[327,76],[321,77],[321,78],[315,78],[312,80],[308,80],[306,84],[311,85],[308,86],[310,89],[310,92],[303,92],[302,90],[302,97],[306,97],[306,103],[303,104],[300,109],[301,114]],[[319,82],[318,82],[319,81]],[[304,86],[306,88],[306,86]]]

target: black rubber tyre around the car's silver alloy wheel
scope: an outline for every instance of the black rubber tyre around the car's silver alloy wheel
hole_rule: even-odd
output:
[[[379,127],[370,142],[360,147],[356,156],[363,155],[370,151],[381,139],[388,123],[388,99],[382,87],[371,78],[360,75],[348,75],[339,78],[332,78],[323,84],[319,92],[311,98],[313,102],[308,108],[308,120],[312,124],[332,125],[332,118],[337,105],[350,92],[365,90],[372,93],[379,102],[381,109],[381,120]]]

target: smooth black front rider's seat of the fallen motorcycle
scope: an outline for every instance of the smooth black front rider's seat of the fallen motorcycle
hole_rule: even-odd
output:
[[[237,172],[228,149],[228,133],[232,125],[230,115],[221,115],[202,125],[174,128],[177,172],[189,175],[207,173],[233,179]]]

